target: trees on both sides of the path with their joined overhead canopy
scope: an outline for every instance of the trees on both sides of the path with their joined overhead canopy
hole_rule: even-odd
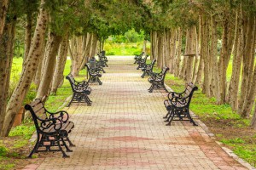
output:
[[[218,104],[229,103],[249,117],[256,93],[255,8],[253,0],[0,0],[1,136],[9,134],[32,82],[38,85],[36,98],[45,101],[56,93],[68,52],[71,72],[78,75],[108,36],[132,28],[150,35],[151,56],[160,67],[168,65],[176,77],[199,84]],[[23,68],[8,99],[15,31],[22,23]],[[255,119],[254,114],[254,127]]]

